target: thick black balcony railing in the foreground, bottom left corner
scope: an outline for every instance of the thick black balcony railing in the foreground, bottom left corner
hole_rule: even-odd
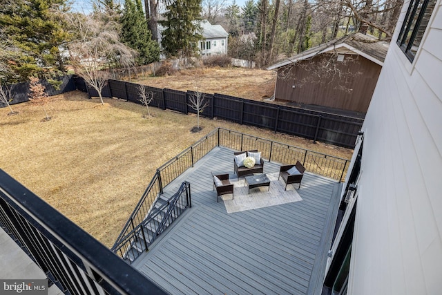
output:
[[[0,226],[65,294],[166,294],[1,169]]]

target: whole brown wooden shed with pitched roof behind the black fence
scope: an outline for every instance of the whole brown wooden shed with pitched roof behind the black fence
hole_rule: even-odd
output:
[[[357,32],[280,61],[275,99],[366,113],[388,47]]]

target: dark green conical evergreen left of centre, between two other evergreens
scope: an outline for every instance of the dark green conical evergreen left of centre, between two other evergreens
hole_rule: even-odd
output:
[[[140,0],[125,0],[121,19],[122,42],[137,51],[136,64],[151,64],[160,59],[160,47],[152,40]]]

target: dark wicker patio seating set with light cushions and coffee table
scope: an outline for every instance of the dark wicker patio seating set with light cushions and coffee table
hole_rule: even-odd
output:
[[[256,187],[269,187],[270,180],[264,173],[264,160],[261,158],[261,153],[258,150],[254,151],[240,151],[233,153],[233,170],[236,173],[237,179],[244,176],[244,186],[254,189]],[[301,187],[302,176],[304,175],[305,167],[299,161],[296,164],[282,165],[278,175],[278,180],[282,178],[285,182],[285,190],[287,190],[287,184],[299,183],[298,189]],[[255,173],[261,173],[261,175],[254,175]],[[216,189],[217,197],[216,201],[219,201],[219,197],[227,194],[233,196],[233,183],[229,180],[229,173],[213,175],[213,189]]]

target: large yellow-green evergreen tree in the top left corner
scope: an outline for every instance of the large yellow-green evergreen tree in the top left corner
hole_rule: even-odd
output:
[[[10,61],[13,74],[9,82],[26,81],[32,75],[50,77],[64,72],[64,58],[59,52],[69,35],[51,11],[66,11],[66,0],[1,1],[0,28],[19,50]]]

